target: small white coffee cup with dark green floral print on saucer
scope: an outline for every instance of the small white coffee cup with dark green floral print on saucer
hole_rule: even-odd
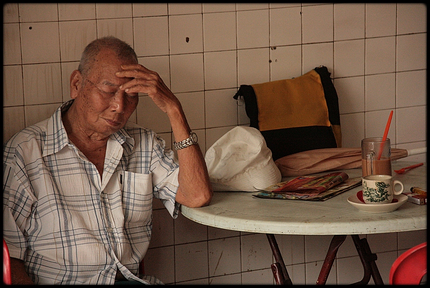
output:
[[[403,192],[403,183],[394,180],[390,175],[369,175],[363,177],[363,201],[366,204],[386,204],[391,203],[394,195],[400,195]],[[400,186],[400,190],[394,187]]]

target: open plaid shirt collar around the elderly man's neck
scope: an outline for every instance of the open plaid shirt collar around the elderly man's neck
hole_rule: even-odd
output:
[[[45,145],[43,145],[42,156],[51,155],[59,152],[65,146],[68,146],[69,137],[67,136],[66,129],[64,128],[63,121],[61,119],[61,112],[69,110],[73,103],[73,99],[63,103],[54,114],[48,119],[47,131],[43,135],[45,139]],[[134,139],[124,129],[113,133],[110,136],[111,139],[118,141],[120,145],[128,146],[128,150],[131,151],[134,148]]]

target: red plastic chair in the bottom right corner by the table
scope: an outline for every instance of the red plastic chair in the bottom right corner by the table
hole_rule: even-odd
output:
[[[394,261],[390,285],[420,285],[427,274],[427,242],[410,248]]]

